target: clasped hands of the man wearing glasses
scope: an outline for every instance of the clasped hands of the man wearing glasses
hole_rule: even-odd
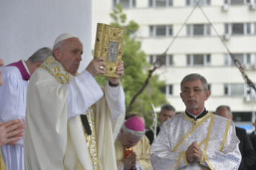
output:
[[[190,144],[185,152],[185,156],[189,162],[197,161],[197,163],[200,163],[202,155],[203,152],[201,151],[201,148],[197,145],[197,142],[193,142],[192,144]]]

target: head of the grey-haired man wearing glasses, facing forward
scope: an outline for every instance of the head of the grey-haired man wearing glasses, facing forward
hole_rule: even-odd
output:
[[[199,115],[204,110],[209,95],[207,80],[203,76],[191,74],[182,79],[180,96],[191,114]]]

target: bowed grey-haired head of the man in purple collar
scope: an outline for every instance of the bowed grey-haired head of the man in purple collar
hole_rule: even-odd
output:
[[[48,47],[40,48],[35,51],[29,59],[26,60],[26,67],[30,71],[30,75],[33,75],[35,70],[48,58],[51,56],[52,50]]]

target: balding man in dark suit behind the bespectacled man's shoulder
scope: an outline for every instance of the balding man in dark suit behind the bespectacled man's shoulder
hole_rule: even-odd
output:
[[[231,120],[233,119],[233,114],[229,106],[221,105],[217,107],[216,115],[221,115],[222,117],[225,117]],[[250,139],[246,134],[246,129],[235,127],[235,130],[236,130],[238,139],[240,140],[239,150],[242,155],[242,161],[241,161],[239,170],[249,169],[254,164],[256,164],[256,155],[254,152],[254,148],[252,147],[252,144],[250,144]]]

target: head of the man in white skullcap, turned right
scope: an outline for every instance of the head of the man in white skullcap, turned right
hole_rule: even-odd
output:
[[[78,71],[82,55],[83,44],[75,35],[65,33],[56,38],[53,56],[71,75]]]

